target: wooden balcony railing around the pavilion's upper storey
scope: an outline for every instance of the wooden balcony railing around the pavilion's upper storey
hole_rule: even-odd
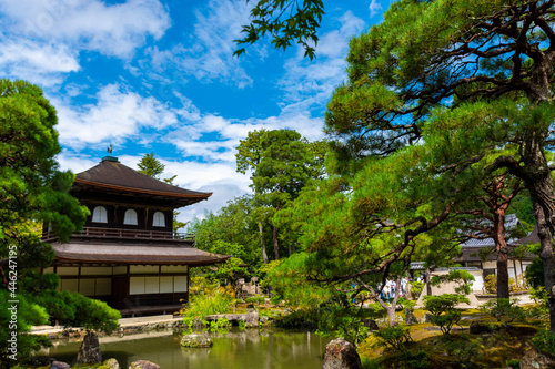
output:
[[[138,238],[138,239],[175,239],[194,240],[194,234],[148,230],[148,229],[122,229],[122,228],[99,228],[83,227],[83,230],[75,233],[74,236],[100,237],[100,238]],[[42,234],[43,242],[50,242],[58,238],[52,232]]]

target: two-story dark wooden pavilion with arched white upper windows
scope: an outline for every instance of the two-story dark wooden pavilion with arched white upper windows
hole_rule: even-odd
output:
[[[173,312],[189,298],[189,268],[225,262],[228,255],[193,247],[173,232],[173,211],[211,193],[180,188],[107,156],[77,174],[71,193],[91,215],[67,243],[44,229],[56,260],[44,273],[60,290],[101,299],[125,315]]]

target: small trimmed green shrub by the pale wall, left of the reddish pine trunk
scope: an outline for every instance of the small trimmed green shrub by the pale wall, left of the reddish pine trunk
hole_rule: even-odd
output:
[[[424,296],[424,306],[432,314],[432,324],[440,326],[443,335],[450,335],[454,325],[461,320],[461,310],[455,306],[471,301],[461,295],[443,294],[441,296]]]

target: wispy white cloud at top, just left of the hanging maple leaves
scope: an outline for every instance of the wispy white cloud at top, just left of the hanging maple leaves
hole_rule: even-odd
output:
[[[249,23],[250,10],[245,1],[210,0],[196,10],[192,42],[176,44],[169,50],[150,49],[153,65],[160,71],[176,68],[200,81],[232,81],[240,89],[252,85],[252,79],[233,57],[233,40],[241,38],[241,27]],[[254,47],[264,58],[264,47]]]

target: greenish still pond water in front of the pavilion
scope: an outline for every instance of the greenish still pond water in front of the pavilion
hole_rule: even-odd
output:
[[[137,360],[150,360],[162,369],[311,369],[322,368],[329,339],[314,332],[259,331],[233,328],[209,334],[212,348],[182,348],[181,334],[151,332],[100,339],[102,358],[115,358],[121,368]],[[59,344],[43,352],[73,363],[80,342]]]

